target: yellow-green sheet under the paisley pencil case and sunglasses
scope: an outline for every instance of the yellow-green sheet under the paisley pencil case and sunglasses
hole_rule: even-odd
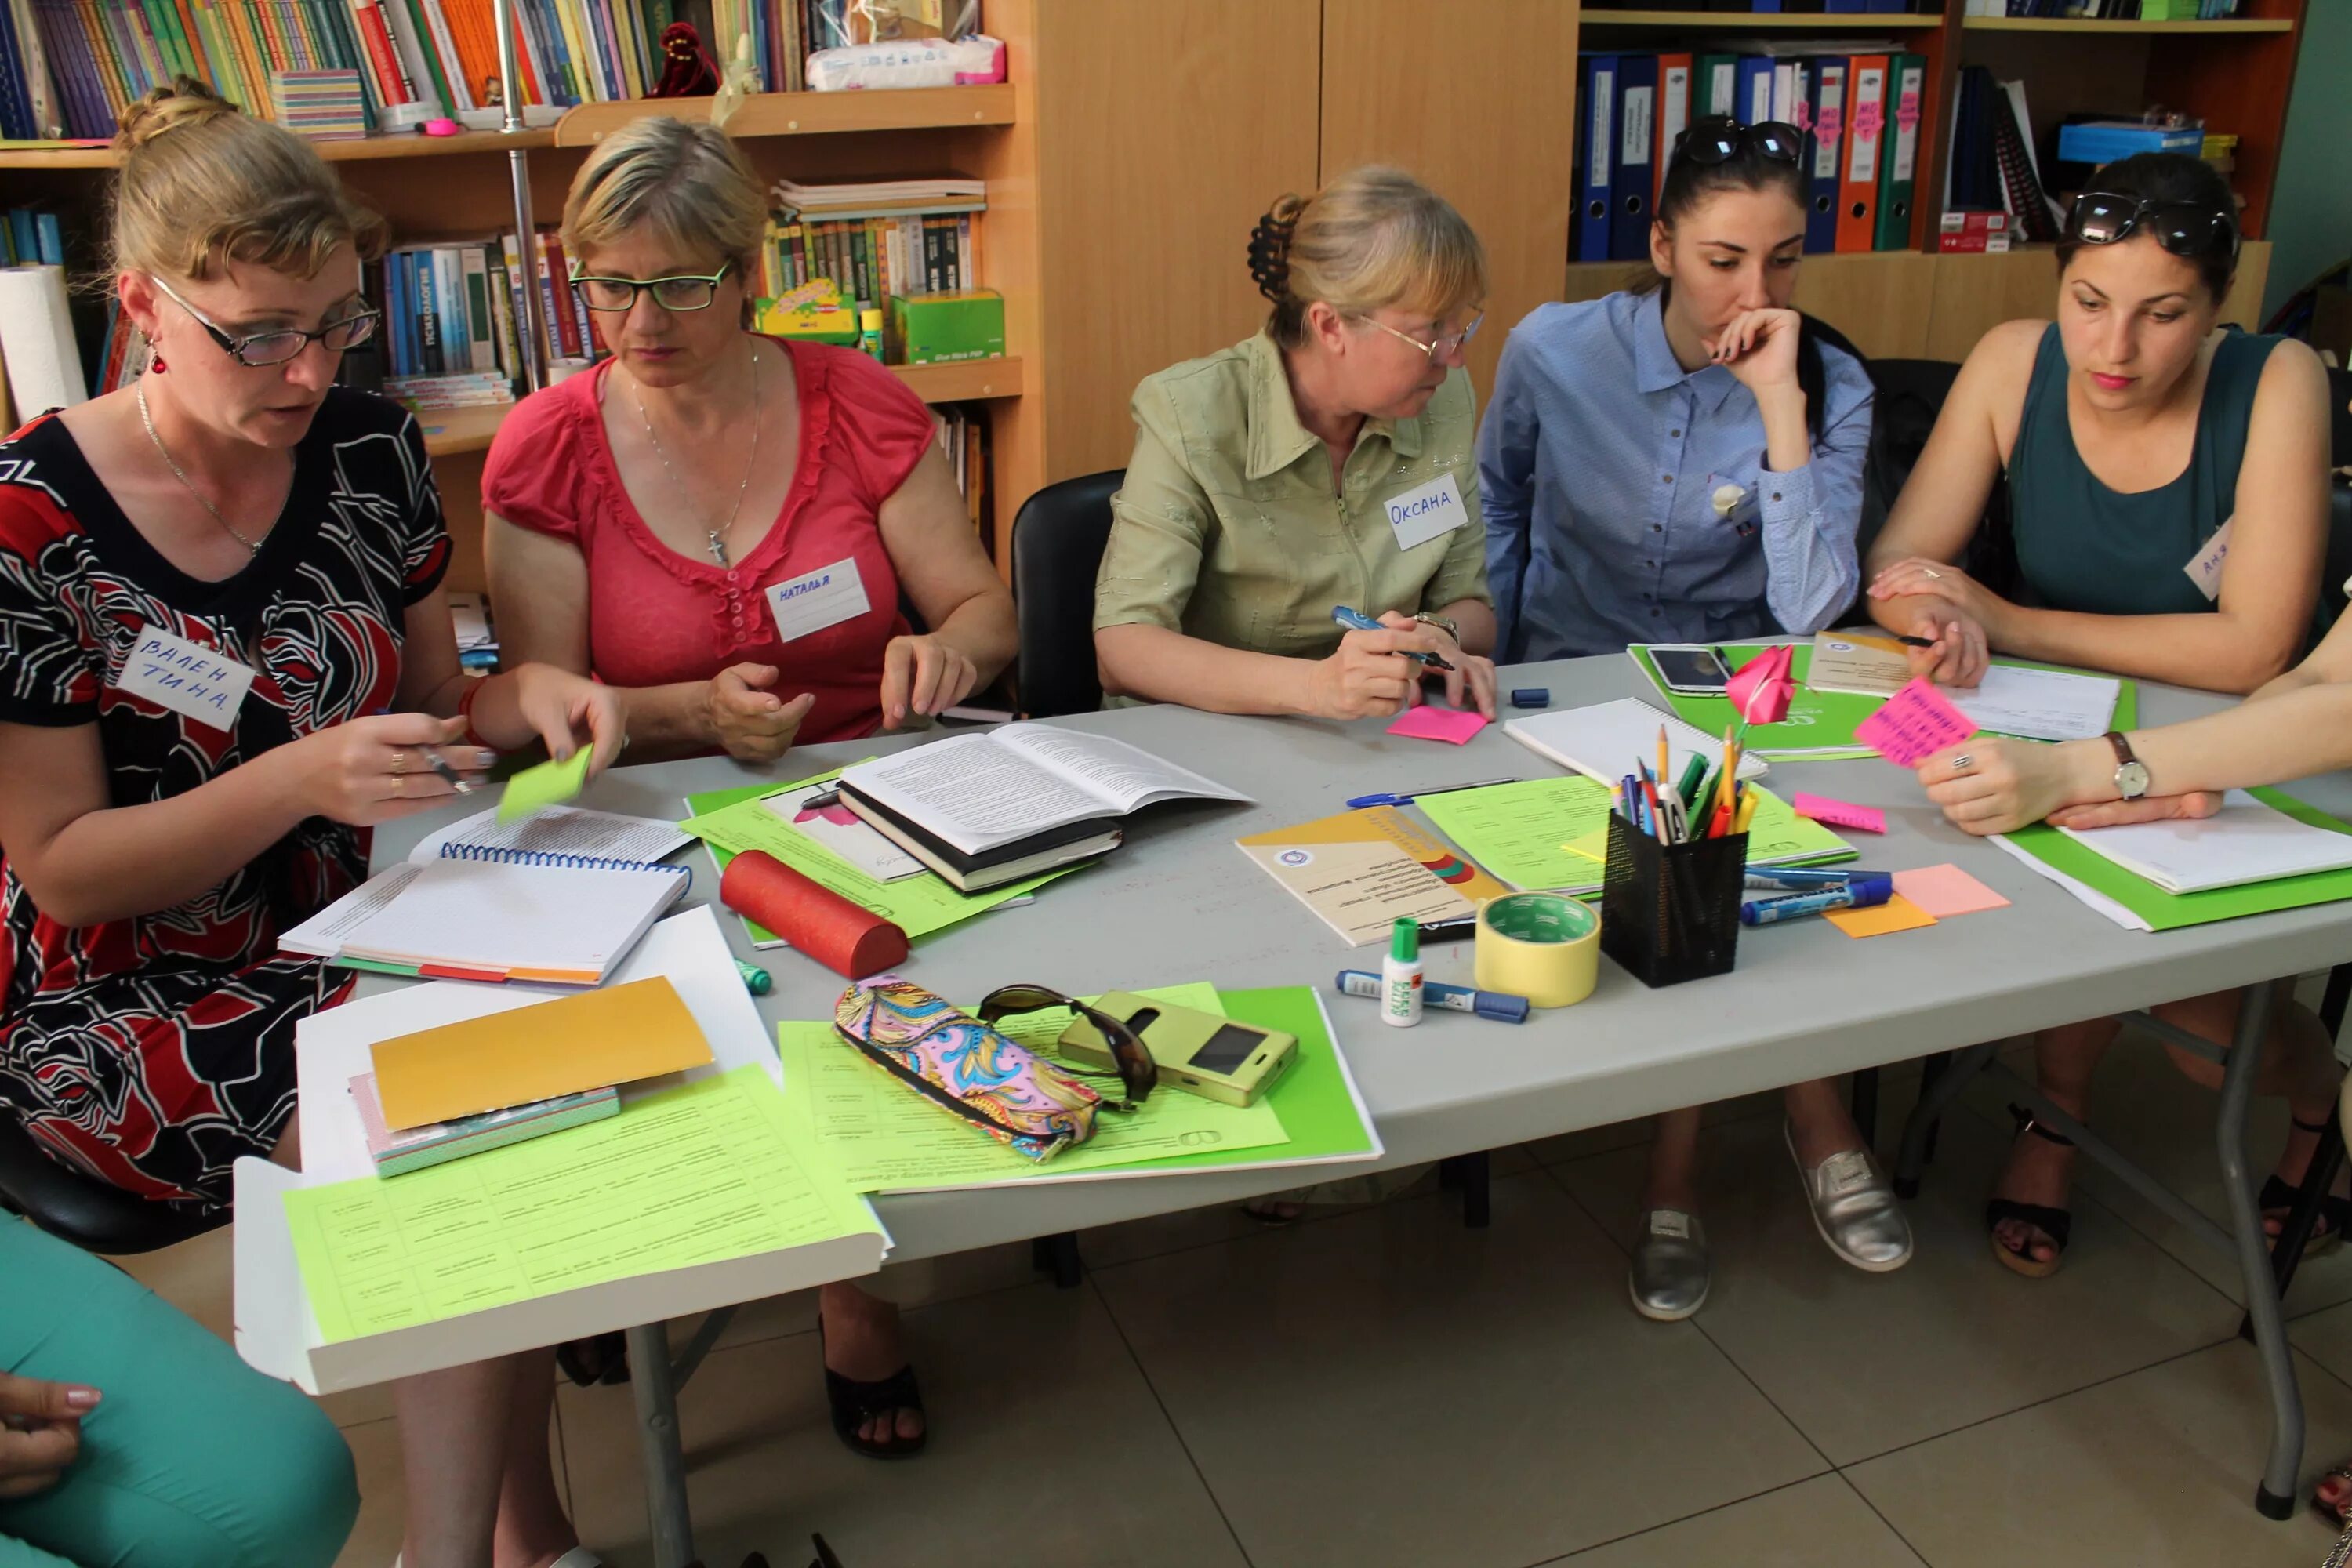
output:
[[[1141,994],[1204,1013],[1225,1011],[1214,985],[1169,985]],[[1068,1023],[1070,1013],[1056,1009],[1009,1018],[1004,1032],[1051,1056],[1049,1046]],[[1167,1154],[1289,1143],[1282,1117],[1265,1100],[1242,1110],[1160,1086],[1131,1117],[1108,1107],[1096,1112],[1094,1138],[1037,1164],[891,1079],[835,1034],[830,1023],[776,1025],[776,1048],[783,1056],[793,1126],[816,1140],[826,1161],[856,1192],[1016,1182]],[[1089,1081],[1105,1098],[1117,1098],[1117,1079]]]

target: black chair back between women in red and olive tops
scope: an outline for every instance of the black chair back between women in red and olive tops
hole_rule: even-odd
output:
[[[1094,571],[1110,543],[1110,496],[1124,468],[1047,484],[1014,515],[1014,616],[1021,625],[1021,712],[1094,712]]]

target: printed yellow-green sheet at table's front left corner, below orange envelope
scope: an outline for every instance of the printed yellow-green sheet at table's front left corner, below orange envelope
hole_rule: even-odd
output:
[[[875,1232],[858,1194],[795,1152],[762,1067],[409,1175],[296,1187],[285,1204],[327,1342]]]

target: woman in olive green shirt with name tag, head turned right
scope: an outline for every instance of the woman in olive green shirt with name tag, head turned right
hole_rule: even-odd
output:
[[[1444,197],[1357,169],[1249,244],[1265,331],[1136,388],[1094,651],[1112,701],[1392,715],[1421,665],[1494,717],[1494,599],[1463,346],[1486,254]],[[1345,630],[1334,607],[1381,630]]]

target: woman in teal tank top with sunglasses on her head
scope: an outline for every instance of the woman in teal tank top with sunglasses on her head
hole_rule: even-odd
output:
[[[2194,158],[2126,158],[2093,176],[2058,247],[2058,322],[2009,322],[1969,355],[1886,531],[1870,550],[1870,614],[1924,637],[1912,668],[1976,684],[1990,654],[2246,693],[2303,646],[2326,545],[2326,374],[2303,343],[2216,331],[2237,261],[2230,188]],[[1957,562],[2009,470],[2016,588]],[[2122,755],[2122,752],[2119,752]],[[1994,745],[1933,759],[1950,792],[2009,766]],[[1985,811],[1973,802],[1966,811]],[[1964,823],[1969,825],[1969,823]],[[2281,985],[2281,992],[2286,987]],[[2239,992],[2164,1001],[2157,1018],[2227,1048]],[[2042,1093],[2079,1121],[2119,1023],[2042,1030]],[[2293,1131],[2263,1190],[2270,1227],[2300,1194],[2336,1107],[2319,1020],[2284,994],[2270,1013],[2260,1093]],[[2220,1067],[2183,1051],[2190,1077]],[[1992,1253],[2027,1276],[2058,1269],[2072,1215],[2072,1145],[2018,1117],[1985,1206]],[[2023,1133],[2034,1133],[2025,1138]],[[2331,1199],[2324,1237],[2352,1208]]]

